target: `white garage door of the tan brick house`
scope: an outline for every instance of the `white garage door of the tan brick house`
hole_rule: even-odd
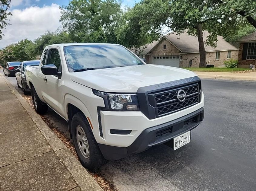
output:
[[[152,64],[165,66],[180,66],[180,56],[153,56]]]

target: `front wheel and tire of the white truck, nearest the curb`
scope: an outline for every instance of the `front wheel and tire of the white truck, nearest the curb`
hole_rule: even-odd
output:
[[[78,112],[73,116],[71,132],[78,158],[85,168],[95,171],[106,163],[88,120],[82,112]]]

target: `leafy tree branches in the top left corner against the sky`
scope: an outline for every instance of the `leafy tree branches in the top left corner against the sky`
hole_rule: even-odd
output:
[[[2,40],[2,29],[5,29],[9,25],[8,16],[12,15],[11,12],[7,12],[10,7],[11,0],[1,0],[0,1],[0,40]]]

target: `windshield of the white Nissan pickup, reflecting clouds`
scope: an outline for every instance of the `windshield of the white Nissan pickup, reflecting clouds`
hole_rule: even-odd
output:
[[[143,64],[120,45],[65,46],[64,54],[69,72]]]

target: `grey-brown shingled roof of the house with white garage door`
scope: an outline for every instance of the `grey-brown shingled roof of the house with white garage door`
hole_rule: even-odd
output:
[[[210,34],[207,31],[204,31],[203,33],[204,42],[206,41],[209,35]],[[181,53],[199,53],[198,38],[194,36],[190,36],[188,35],[188,33],[182,33],[180,35],[177,35],[176,33],[170,33],[168,35],[165,35],[163,38],[165,38],[171,44],[173,44],[178,50],[180,50]],[[143,51],[140,54],[141,55],[149,54],[158,45],[158,43],[161,42],[161,40],[156,41],[157,43],[155,43],[154,41],[154,43],[146,45],[147,48],[143,49]],[[221,36],[218,36],[217,40],[218,42],[217,42],[216,48],[205,45],[206,52],[238,50],[237,47],[225,41]]]

